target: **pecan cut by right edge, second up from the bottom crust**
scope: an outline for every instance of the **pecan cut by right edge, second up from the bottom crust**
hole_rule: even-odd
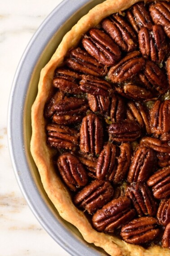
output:
[[[161,200],[157,210],[157,219],[163,226],[166,226],[168,223],[170,223],[170,199]]]

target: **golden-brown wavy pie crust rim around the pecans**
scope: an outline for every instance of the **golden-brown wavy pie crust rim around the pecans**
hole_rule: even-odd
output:
[[[62,64],[67,51],[72,47],[76,47],[82,34],[95,27],[102,19],[117,11],[128,9],[137,2],[139,0],[106,0],[91,9],[63,37],[51,60],[41,70],[38,94],[31,112],[31,154],[40,172],[41,181],[49,199],[63,219],[76,225],[76,228],[79,229],[87,242],[94,243],[97,247],[102,247],[112,256],[142,256],[143,253],[148,253],[147,255],[159,253],[159,256],[163,256],[166,253],[170,253],[170,250],[163,249],[160,246],[151,246],[148,249],[144,249],[141,246],[126,243],[115,236],[98,233],[92,228],[85,214],[72,203],[70,193],[54,170],[52,161],[54,153],[46,144],[46,121],[43,115],[45,102],[47,102],[53,86],[54,70]]]

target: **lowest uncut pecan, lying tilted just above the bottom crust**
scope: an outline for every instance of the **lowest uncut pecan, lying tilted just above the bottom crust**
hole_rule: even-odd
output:
[[[121,228],[121,236],[125,242],[143,244],[151,242],[160,233],[157,219],[153,217],[140,217],[133,219]]]

